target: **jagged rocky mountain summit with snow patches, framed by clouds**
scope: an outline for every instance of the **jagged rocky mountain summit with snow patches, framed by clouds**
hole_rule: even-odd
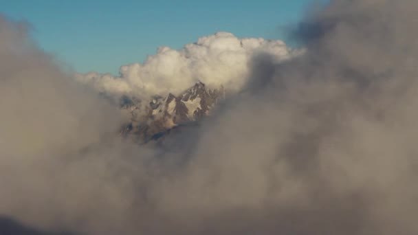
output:
[[[122,135],[139,142],[148,142],[175,126],[195,122],[209,115],[214,106],[225,98],[223,87],[208,89],[197,82],[183,93],[169,93],[165,98],[153,96],[150,100],[122,97],[120,108],[130,116],[122,127]]]

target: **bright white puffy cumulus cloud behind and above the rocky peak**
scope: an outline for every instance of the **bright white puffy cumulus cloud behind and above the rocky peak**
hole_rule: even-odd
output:
[[[259,53],[272,54],[280,61],[289,58],[293,51],[283,41],[236,38],[228,32],[217,32],[179,50],[159,47],[157,54],[148,56],[143,64],[120,67],[119,77],[91,72],[77,74],[76,78],[101,92],[144,98],[177,95],[199,81],[235,92],[248,80],[250,58]]]

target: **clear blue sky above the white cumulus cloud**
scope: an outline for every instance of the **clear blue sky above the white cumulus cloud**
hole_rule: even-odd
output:
[[[43,49],[76,71],[118,74],[157,47],[181,48],[218,31],[284,37],[311,0],[0,0],[0,12],[29,21]]]

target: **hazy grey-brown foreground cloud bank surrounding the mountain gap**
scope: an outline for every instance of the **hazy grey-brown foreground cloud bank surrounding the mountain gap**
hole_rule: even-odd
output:
[[[159,145],[0,21],[0,212],[80,234],[417,234],[418,2],[331,1],[302,56]],[[41,90],[40,90],[41,89]],[[113,119],[114,118],[114,119]]]

